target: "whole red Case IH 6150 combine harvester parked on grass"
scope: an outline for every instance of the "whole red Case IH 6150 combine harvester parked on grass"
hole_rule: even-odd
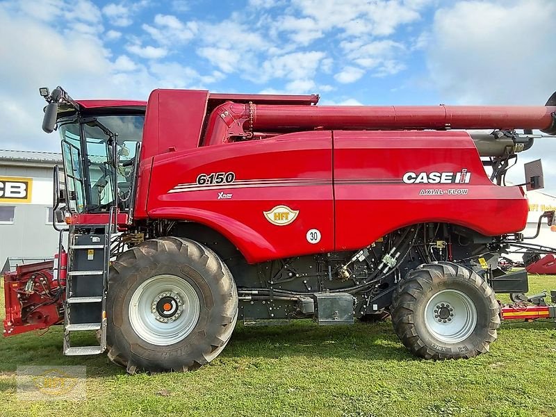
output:
[[[218,356],[236,320],[389,312],[419,357],[468,358],[496,339],[495,291],[528,291],[525,270],[497,267],[510,245],[534,247],[519,233],[523,190],[503,184],[531,129],[556,133],[556,95],[529,107],[41,95],[43,129],[62,138],[55,211],[69,227],[55,263],[6,275],[5,336],[63,325],[65,354],[190,370]],[[526,174],[542,186],[539,161]],[[82,331],[98,344],[74,345]]]

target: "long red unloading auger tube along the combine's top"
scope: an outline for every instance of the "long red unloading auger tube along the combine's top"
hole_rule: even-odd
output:
[[[503,156],[532,144],[532,135],[518,135],[516,129],[556,134],[555,95],[546,106],[298,106],[227,101],[209,116],[203,145],[250,137],[254,131],[492,129],[492,133],[470,134],[480,156]]]

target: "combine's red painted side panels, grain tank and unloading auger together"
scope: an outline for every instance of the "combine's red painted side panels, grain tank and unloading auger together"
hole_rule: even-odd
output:
[[[468,134],[423,129],[545,129],[556,107],[311,105],[317,99],[154,90],[145,118],[135,219],[204,223],[250,262],[355,250],[427,221],[461,224],[486,236],[523,229],[528,212],[523,193],[489,181]],[[257,132],[278,136],[237,142]],[[471,172],[467,184],[401,181],[409,171],[464,169]],[[199,174],[218,172],[234,172],[236,181],[170,193],[180,183],[194,184]],[[241,182],[273,179],[282,181],[278,186]],[[467,194],[420,195],[429,189],[466,189]],[[218,199],[220,192],[232,196]],[[299,211],[291,224],[265,219],[263,211],[280,204]],[[319,243],[306,240],[309,229],[321,232]]]

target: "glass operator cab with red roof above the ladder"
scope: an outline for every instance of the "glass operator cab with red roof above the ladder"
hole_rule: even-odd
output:
[[[43,92],[49,102],[43,130],[49,133],[57,126],[62,139],[67,208],[85,214],[108,213],[117,206],[120,213],[129,213],[145,103],[74,101],[60,87],[52,94]]]

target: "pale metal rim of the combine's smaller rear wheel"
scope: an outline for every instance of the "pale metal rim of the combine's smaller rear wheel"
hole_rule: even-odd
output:
[[[468,338],[477,325],[477,308],[471,298],[459,290],[436,293],[425,307],[425,325],[445,343],[459,343]]]

